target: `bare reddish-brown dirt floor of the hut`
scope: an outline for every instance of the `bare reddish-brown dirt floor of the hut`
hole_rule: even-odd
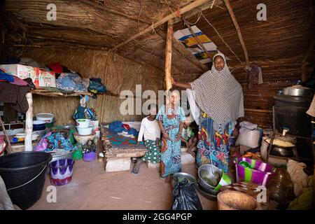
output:
[[[184,165],[183,172],[194,176],[194,164]],[[128,172],[107,173],[103,162],[77,160],[73,179],[65,186],[57,186],[57,202],[48,203],[46,177],[41,199],[30,209],[170,209],[172,186],[158,178],[158,169],[142,164],[138,176]],[[203,209],[217,209],[217,203],[198,192]]]

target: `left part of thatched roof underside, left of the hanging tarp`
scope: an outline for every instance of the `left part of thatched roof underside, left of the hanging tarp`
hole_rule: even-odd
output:
[[[191,1],[53,2],[57,6],[56,21],[46,19],[46,7],[51,1],[6,1],[4,9],[21,16],[19,22],[25,27],[26,34],[22,45],[110,50],[169,14],[170,8],[176,10],[177,6],[184,6]],[[13,23],[17,25],[17,20]],[[118,53],[163,71],[164,49],[165,26],[161,26],[137,41],[124,45],[118,49]],[[174,43],[174,49],[174,73],[201,73],[206,69],[180,43]]]

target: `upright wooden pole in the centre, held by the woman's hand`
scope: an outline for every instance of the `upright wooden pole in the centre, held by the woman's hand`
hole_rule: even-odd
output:
[[[172,39],[173,39],[173,22],[167,22],[167,43],[165,48],[165,83],[166,89],[172,88]]]

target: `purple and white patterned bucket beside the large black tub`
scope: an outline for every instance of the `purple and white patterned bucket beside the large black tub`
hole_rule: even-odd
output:
[[[74,160],[61,159],[51,162],[50,182],[55,186],[65,185],[72,180]]]

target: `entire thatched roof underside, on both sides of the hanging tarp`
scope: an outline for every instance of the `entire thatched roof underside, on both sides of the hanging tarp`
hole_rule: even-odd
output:
[[[15,46],[87,48],[110,50],[128,37],[186,6],[191,0],[146,0],[146,1],[102,1],[102,0],[57,0],[57,20],[48,21],[48,0],[6,0],[6,20],[22,27],[20,38],[15,36]],[[251,61],[275,60],[302,57],[314,36],[314,6],[311,1],[266,0],[267,21],[256,19],[259,0],[231,1],[237,22],[246,43]],[[235,27],[222,1],[212,1],[186,13],[193,22],[199,10],[225,40],[236,55],[244,62],[244,54],[237,38]],[[14,13],[20,20],[13,18]],[[8,22],[8,21],[7,21]],[[183,22],[176,18],[174,30],[183,29]],[[203,17],[197,22],[219,50],[232,59],[231,64],[240,65],[239,60],[227,48]],[[150,64],[164,71],[166,25],[144,34],[135,41],[118,49],[118,53],[141,64]],[[17,34],[17,33],[15,33]],[[310,57],[311,58],[311,57]],[[190,55],[178,41],[174,41],[172,73],[202,73],[207,67]]]

